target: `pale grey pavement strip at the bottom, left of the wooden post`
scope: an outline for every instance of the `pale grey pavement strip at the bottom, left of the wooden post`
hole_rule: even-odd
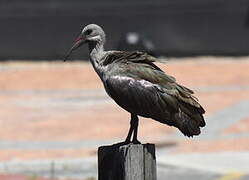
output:
[[[59,160],[15,160],[0,163],[0,172],[48,178],[84,179],[97,177],[97,162],[96,157]]]

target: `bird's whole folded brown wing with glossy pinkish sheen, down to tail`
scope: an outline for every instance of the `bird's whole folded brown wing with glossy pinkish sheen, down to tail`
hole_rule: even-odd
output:
[[[125,53],[110,63],[107,89],[111,97],[126,110],[136,109],[145,117],[161,121],[159,114],[164,113],[166,123],[178,127],[187,136],[199,134],[199,127],[205,126],[202,116],[205,110],[193,96],[194,92],[178,84],[153,62],[146,54],[126,56]],[[170,117],[172,114],[174,117]]]

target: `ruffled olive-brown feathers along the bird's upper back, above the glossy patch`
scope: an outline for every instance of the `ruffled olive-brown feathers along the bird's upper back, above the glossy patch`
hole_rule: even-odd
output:
[[[156,66],[154,62],[158,61],[157,58],[139,51],[113,51],[105,58],[106,64],[118,64],[119,70],[121,69],[124,76],[147,80],[161,87],[161,90],[187,101],[187,103],[196,104],[195,101],[192,102],[192,98],[196,99],[192,95],[194,92],[176,83],[173,76],[167,75]],[[198,106],[198,103],[196,105]]]

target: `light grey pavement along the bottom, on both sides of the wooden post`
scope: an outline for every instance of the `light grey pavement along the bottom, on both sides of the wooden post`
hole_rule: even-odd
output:
[[[249,153],[165,155],[157,152],[158,180],[229,180],[249,177]],[[97,178],[97,159],[33,160],[0,163],[0,172],[59,178]],[[228,180],[225,179],[224,180]]]

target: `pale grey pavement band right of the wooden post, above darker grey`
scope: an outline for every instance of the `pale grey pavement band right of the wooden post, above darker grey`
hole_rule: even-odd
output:
[[[189,153],[165,155],[159,151],[158,163],[217,174],[249,174],[249,152]]]

